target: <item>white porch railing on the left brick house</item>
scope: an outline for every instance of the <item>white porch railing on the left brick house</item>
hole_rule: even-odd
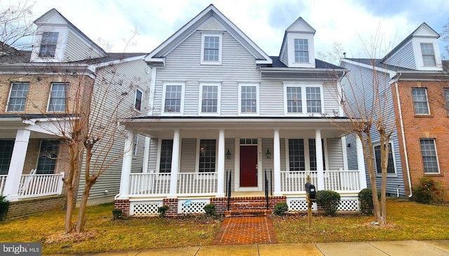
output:
[[[60,195],[63,177],[64,173],[22,175],[19,198]]]

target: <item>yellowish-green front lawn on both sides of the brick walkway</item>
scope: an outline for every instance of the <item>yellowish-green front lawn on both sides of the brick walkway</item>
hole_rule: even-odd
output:
[[[0,222],[0,243],[42,242],[43,254],[112,252],[210,245],[221,222],[203,216],[113,220],[112,203],[88,208],[86,233],[63,236],[62,210]],[[341,241],[448,240],[449,206],[387,201],[387,227],[371,225],[373,216],[327,217],[314,214],[274,217],[279,243]]]

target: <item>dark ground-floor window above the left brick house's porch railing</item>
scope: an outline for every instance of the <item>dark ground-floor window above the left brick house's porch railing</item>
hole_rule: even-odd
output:
[[[59,140],[41,140],[36,174],[55,173],[56,159],[58,159]]]

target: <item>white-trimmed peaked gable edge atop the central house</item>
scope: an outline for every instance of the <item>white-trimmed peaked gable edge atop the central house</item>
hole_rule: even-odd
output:
[[[163,58],[168,55],[172,50],[180,45],[185,39],[196,32],[201,25],[204,24],[208,18],[213,17],[217,22],[224,27],[227,32],[236,39],[241,45],[248,50],[248,52],[254,56],[256,64],[272,64],[272,59],[269,58],[267,53],[259,48],[251,39],[246,36],[234,23],[232,23],[225,15],[220,13],[220,11],[210,4],[201,13],[196,15],[192,20],[187,22],[186,25],[181,27],[175,34],[170,36],[166,41],[161,43],[156,49],[147,55],[145,61],[147,62],[163,62]]]

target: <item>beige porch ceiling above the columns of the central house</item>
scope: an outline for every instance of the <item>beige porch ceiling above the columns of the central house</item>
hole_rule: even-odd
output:
[[[173,130],[180,130],[182,137],[217,137],[220,129],[225,137],[272,137],[276,129],[281,137],[314,137],[317,129],[322,137],[347,135],[333,122],[350,126],[344,118],[142,118],[122,124],[149,137],[173,137]]]

